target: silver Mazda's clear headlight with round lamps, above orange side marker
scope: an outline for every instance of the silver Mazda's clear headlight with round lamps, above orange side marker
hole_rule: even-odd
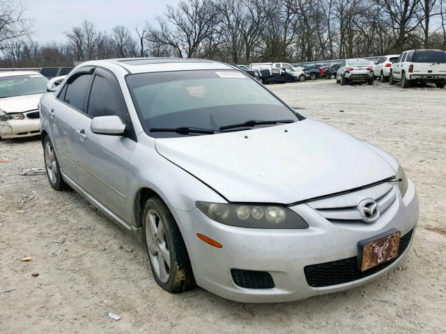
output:
[[[195,202],[213,221],[240,228],[308,228],[301,216],[279,205],[248,205]]]

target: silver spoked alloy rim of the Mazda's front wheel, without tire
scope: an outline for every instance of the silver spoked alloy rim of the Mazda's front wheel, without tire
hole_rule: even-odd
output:
[[[164,223],[154,209],[150,209],[146,216],[146,241],[153,270],[157,278],[166,283],[171,269],[169,242]]]

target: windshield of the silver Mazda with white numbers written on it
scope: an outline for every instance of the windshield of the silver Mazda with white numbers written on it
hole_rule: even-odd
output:
[[[146,134],[178,137],[152,128],[219,130],[247,120],[302,119],[249,76],[231,70],[132,74],[126,77]]]

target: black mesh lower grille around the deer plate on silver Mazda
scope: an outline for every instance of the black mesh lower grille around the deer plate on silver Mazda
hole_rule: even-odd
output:
[[[410,230],[410,232],[404,234],[399,240],[399,255],[401,255],[409,246],[412,234],[413,230]],[[353,280],[359,280],[383,270],[385,267],[392,264],[394,260],[380,264],[367,271],[359,271],[359,269],[357,269],[356,256],[348,257],[343,260],[312,264],[304,268],[305,278],[307,278],[307,283],[310,287],[328,287],[330,285],[353,282]]]

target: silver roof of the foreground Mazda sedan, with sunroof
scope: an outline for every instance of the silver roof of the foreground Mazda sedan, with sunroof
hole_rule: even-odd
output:
[[[218,61],[193,58],[121,58],[82,63],[82,66],[109,67],[109,65],[123,67],[129,74],[186,70],[234,70],[235,68],[235,66]]]

